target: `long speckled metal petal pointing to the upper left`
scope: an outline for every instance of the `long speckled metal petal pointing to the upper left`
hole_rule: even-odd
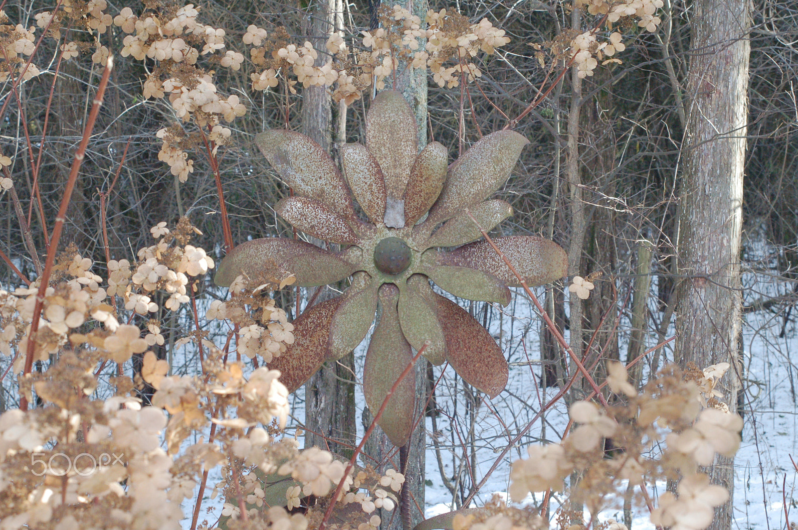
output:
[[[294,194],[315,198],[347,219],[357,218],[343,177],[318,143],[286,129],[261,132],[255,143]]]

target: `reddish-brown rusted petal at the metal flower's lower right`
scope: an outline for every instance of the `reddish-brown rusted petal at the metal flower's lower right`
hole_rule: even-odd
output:
[[[501,348],[468,311],[438,294],[435,300],[449,364],[472,387],[495,398],[508,379],[508,364]]]

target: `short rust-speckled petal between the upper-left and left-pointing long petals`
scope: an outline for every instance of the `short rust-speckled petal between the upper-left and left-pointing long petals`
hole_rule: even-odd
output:
[[[314,198],[286,197],[275,205],[275,211],[295,229],[314,238],[344,245],[360,241],[344,218]]]

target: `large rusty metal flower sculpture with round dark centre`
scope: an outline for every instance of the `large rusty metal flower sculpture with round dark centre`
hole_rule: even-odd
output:
[[[468,300],[509,303],[508,286],[519,281],[488,241],[478,241],[480,230],[467,212],[485,230],[512,214],[507,202],[486,199],[508,179],[527,139],[517,132],[494,132],[448,166],[440,143],[418,152],[412,110],[401,94],[384,91],[366,116],[365,146],[342,147],[343,176],[306,135],[273,129],[255,141],[294,190],[275,210],[297,230],[343,245],[342,252],[286,238],[247,241],[223,259],[215,282],[229,286],[239,274],[256,278],[275,269],[295,273],[302,287],[352,277],[341,296],[294,320],[294,344],[269,363],[282,371],[280,380],[289,391],[325,361],[358,346],[378,307],[363,374],[372,410],[382,405],[413,358],[413,348],[420,350],[428,340],[424,354],[431,363],[448,361],[491,397],[504,390],[508,364],[496,341],[463,308],[433,292],[429,281]],[[566,273],[566,254],[551,241],[535,236],[494,241],[527,285],[543,285]],[[413,426],[413,379],[401,381],[380,422],[397,446],[407,442]]]

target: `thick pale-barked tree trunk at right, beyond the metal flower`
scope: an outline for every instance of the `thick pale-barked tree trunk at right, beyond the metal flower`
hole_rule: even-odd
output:
[[[681,190],[678,361],[699,368],[729,362],[720,390],[737,410],[740,370],[740,243],[750,45],[747,0],[696,0]],[[709,468],[729,489],[710,528],[731,528],[733,458]]]

